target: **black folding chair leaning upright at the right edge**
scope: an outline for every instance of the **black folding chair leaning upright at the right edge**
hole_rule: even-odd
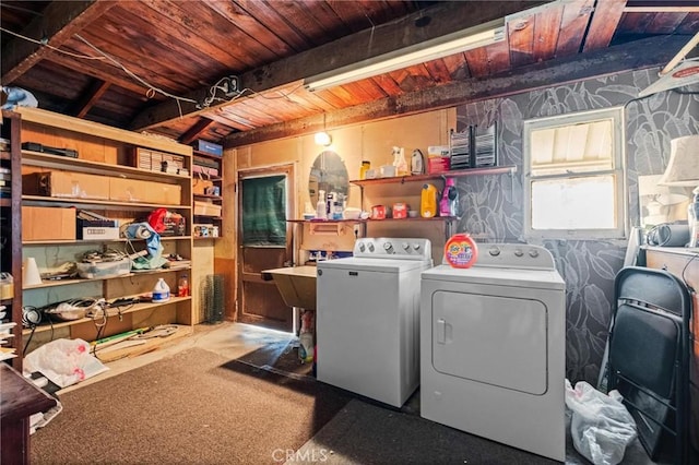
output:
[[[608,342],[608,390],[618,390],[651,460],[672,451],[689,461],[691,295],[662,271],[623,269],[615,279]]]

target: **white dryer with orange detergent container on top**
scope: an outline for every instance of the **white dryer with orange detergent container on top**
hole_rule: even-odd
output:
[[[422,275],[420,415],[565,461],[566,290],[550,252],[485,245]]]

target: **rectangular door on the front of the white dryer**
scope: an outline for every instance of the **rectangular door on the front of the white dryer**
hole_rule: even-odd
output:
[[[437,290],[433,366],[438,372],[541,395],[547,390],[547,309],[540,300]]]

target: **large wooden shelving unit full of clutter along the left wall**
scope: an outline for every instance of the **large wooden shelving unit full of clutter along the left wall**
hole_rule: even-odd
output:
[[[107,217],[115,217],[129,222],[141,222],[147,214],[156,208],[164,207],[168,212],[181,215],[185,218],[186,231],[183,236],[162,236],[163,255],[178,254],[187,260],[192,259],[192,147],[132,133],[103,124],[66,117],[36,108],[17,108],[14,112],[21,118],[21,131],[17,138],[17,147],[23,175],[66,171],[68,174],[98,175],[118,179],[134,180],[133,183],[149,181],[157,182],[163,189],[175,189],[180,193],[180,201],[175,204],[159,202],[129,202],[123,200],[94,200],[83,198],[55,198],[47,195],[22,194],[20,184],[17,202],[23,206],[43,207],[78,207],[91,210]],[[61,146],[78,151],[78,157],[49,155],[36,151],[21,150],[20,142],[34,142],[46,146]],[[183,174],[162,172],[138,168],[134,154],[138,150],[158,151],[171,155],[181,160]],[[19,169],[17,169],[19,171]],[[76,175],[75,175],[76,176]],[[107,178],[105,178],[107,180]],[[21,182],[21,179],[20,179]],[[109,181],[111,182],[111,181]],[[158,186],[159,186],[158,184]],[[110,184],[111,186],[111,184]],[[137,184],[138,186],[138,184]],[[111,193],[111,192],[110,192]],[[111,198],[111,196],[110,196]],[[116,199],[116,198],[115,198]],[[164,199],[163,199],[164,200]],[[13,228],[21,230],[17,227]],[[47,269],[56,267],[66,261],[76,261],[85,251],[107,250],[121,248],[125,253],[132,250],[143,250],[146,247],[144,240],[107,239],[56,239],[56,240],[24,240],[19,238],[17,261],[20,265],[23,258],[34,257]],[[137,251],[138,251],[137,250]],[[42,267],[42,266],[39,266]],[[95,278],[71,278],[61,281],[43,281],[42,284],[27,286],[20,283],[19,294],[23,297],[25,306],[39,308],[52,305],[69,298],[91,297],[104,298],[112,301],[117,298],[139,296],[150,293],[158,277],[163,277],[176,295],[177,282],[182,274],[190,274],[191,266],[178,266],[174,269],[157,269],[140,272],[130,272],[126,275],[104,276]],[[109,314],[109,313],[108,313]],[[167,302],[138,303],[118,315],[109,315],[105,331],[100,337],[108,336],[132,329],[133,326],[147,326],[163,323],[177,323],[192,325],[196,321],[192,311],[191,297],[171,297]],[[90,318],[72,321],[52,321],[42,323],[33,329],[22,331],[24,334],[35,337],[33,343],[42,344],[50,341],[54,333],[57,337],[90,338],[94,322]],[[50,330],[50,332],[49,332]],[[93,337],[97,330],[93,329]],[[48,333],[47,333],[48,332]],[[59,334],[60,333],[60,334]],[[78,334],[78,336],[75,335]],[[49,339],[47,339],[47,337]],[[38,339],[38,341],[37,341]],[[33,347],[28,349],[32,350]]]

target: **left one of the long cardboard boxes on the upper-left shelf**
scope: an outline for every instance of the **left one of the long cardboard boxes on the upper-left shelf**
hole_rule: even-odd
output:
[[[32,172],[22,176],[22,193],[63,199],[109,200],[107,176],[71,171]]]

